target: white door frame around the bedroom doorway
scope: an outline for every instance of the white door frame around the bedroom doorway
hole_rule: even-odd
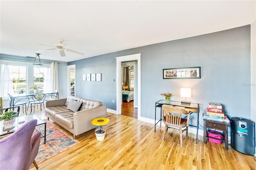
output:
[[[137,88],[134,88],[134,103],[138,108],[138,120],[140,117],[140,92],[141,92],[141,72],[140,72],[140,53],[116,57],[116,114],[122,113],[122,62],[136,61],[137,62]],[[137,99],[137,100],[136,100]]]

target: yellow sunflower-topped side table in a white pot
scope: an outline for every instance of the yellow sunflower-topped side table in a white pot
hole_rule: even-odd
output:
[[[102,126],[110,123],[110,119],[106,117],[99,117],[91,121],[92,125],[99,126],[100,130],[95,131],[95,135],[98,141],[103,141],[106,135],[106,130],[102,129]]]

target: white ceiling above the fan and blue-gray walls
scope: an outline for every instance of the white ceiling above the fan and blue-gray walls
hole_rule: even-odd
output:
[[[256,18],[255,0],[1,0],[0,6],[0,53],[35,57],[34,51],[49,49],[38,44],[58,39],[85,53],[40,52],[41,59],[64,62],[240,27]]]

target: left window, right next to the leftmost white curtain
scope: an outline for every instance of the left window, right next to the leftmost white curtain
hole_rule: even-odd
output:
[[[14,94],[26,93],[26,66],[12,65],[10,67]]]

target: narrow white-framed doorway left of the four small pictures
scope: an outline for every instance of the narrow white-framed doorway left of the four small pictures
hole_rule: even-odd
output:
[[[68,95],[76,96],[76,65],[67,66],[68,68]]]

